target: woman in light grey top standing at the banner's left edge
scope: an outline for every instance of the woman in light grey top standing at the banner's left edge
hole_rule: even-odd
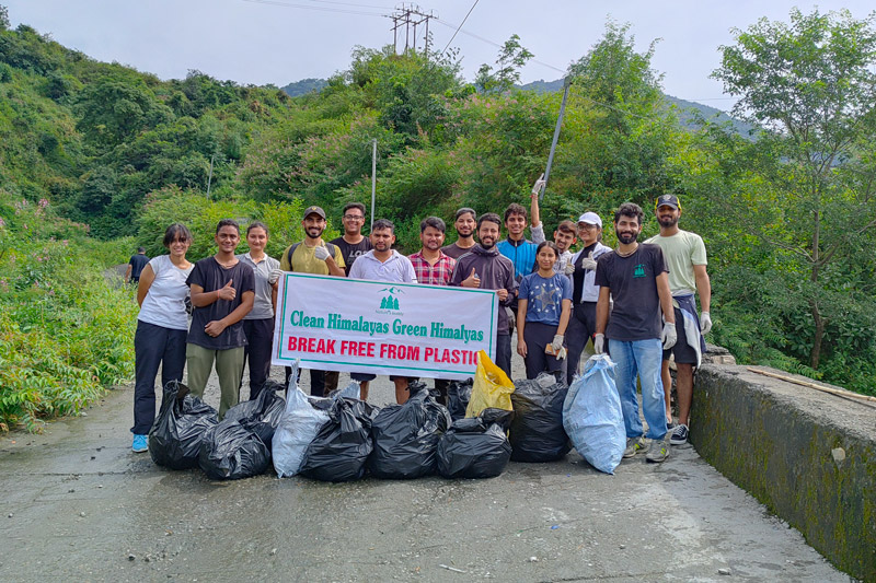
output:
[[[268,232],[264,223],[254,221],[246,228],[246,245],[250,252],[238,255],[238,259],[253,268],[255,275],[255,302],[253,310],[243,318],[243,334],[246,346],[243,349],[243,361],[250,364],[250,399],[258,396],[258,392],[270,376],[270,347],[274,342],[274,285],[268,283],[270,271],[280,268],[280,263],[265,255]]]

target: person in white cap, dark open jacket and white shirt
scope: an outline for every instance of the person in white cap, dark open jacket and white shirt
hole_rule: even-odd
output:
[[[573,255],[572,261],[572,317],[566,331],[568,362],[566,378],[569,383],[578,373],[584,347],[596,333],[596,304],[599,300],[599,285],[596,284],[596,261],[611,252],[599,242],[602,234],[602,219],[595,212],[585,212],[578,218],[578,237],[584,248]]]

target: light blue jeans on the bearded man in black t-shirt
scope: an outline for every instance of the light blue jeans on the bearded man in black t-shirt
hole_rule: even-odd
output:
[[[647,436],[661,440],[666,435],[666,405],[664,403],[664,383],[660,378],[660,364],[664,347],[659,338],[648,340],[609,340],[611,360],[618,368],[614,381],[621,397],[623,424],[627,438],[642,435],[642,420],[638,418],[638,399],[636,399],[636,375],[642,382],[642,409],[648,422]]]

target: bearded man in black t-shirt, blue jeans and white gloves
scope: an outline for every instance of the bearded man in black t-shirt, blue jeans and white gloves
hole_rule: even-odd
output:
[[[677,338],[662,250],[657,245],[639,245],[636,242],[642,233],[643,218],[642,209],[632,202],[621,205],[614,212],[618,248],[600,256],[597,261],[596,284],[600,288],[593,348],[597,353],[603,352],[608,336],[609,352],[618,365],[614,378],[626,429],[623,456],[633,457],[638,452],[647,451],[646,459],[659,463],[669,455],[669,445],[664,442],[666,416],[660,381],[660,345],[668,350]],[[610,296],[614,300],[611,322]],[[660,312],[666,318],[662,331]],[[642,383],[642,408],[648,422],[650,443],[642,436],[636,374]]]

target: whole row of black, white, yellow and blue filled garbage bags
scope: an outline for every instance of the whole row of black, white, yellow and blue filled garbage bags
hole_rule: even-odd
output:
[[[450,383],[448,407],[420,382],[411,383],[406,403],[382,409],[359,398],[355,381],[311,397],[298,386],[297,369],[288,389],[268,382],[221,421],[184,384],[169,383],[149,432],[152,459],[172,469],[199,466],[212,479],[257,476],[273,463],[280,478],[339,482],[366,474],[492,478],[509,460],[554,462],[572,446],[612,474],[625,446],[606,354],[591,358],[569,387],[551,373],[514,383],[482,352],[474,378]]]

